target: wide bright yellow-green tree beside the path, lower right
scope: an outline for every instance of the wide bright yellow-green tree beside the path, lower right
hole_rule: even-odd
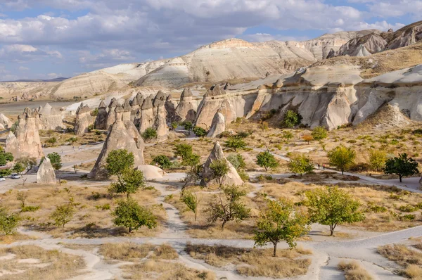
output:
[[[307,191],[306,197],[311,222],[330,226],[331,236],[338,224],[351,224],[365,218],[359,210],[361,203],[338,186]]]

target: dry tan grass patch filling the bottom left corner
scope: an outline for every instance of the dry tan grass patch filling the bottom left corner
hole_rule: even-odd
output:
[[[2,272],[6,272],[1,276],[3,280],[68,279],[79,274],[78,270],[85,266],[82,257],[60,253],[58,250],[44,250],[38,246],[1,248],[0,255],[4,253],[13,254],[15,257],[1,261]],[[35,260],[35,264],[25,262],[28,259]]]

